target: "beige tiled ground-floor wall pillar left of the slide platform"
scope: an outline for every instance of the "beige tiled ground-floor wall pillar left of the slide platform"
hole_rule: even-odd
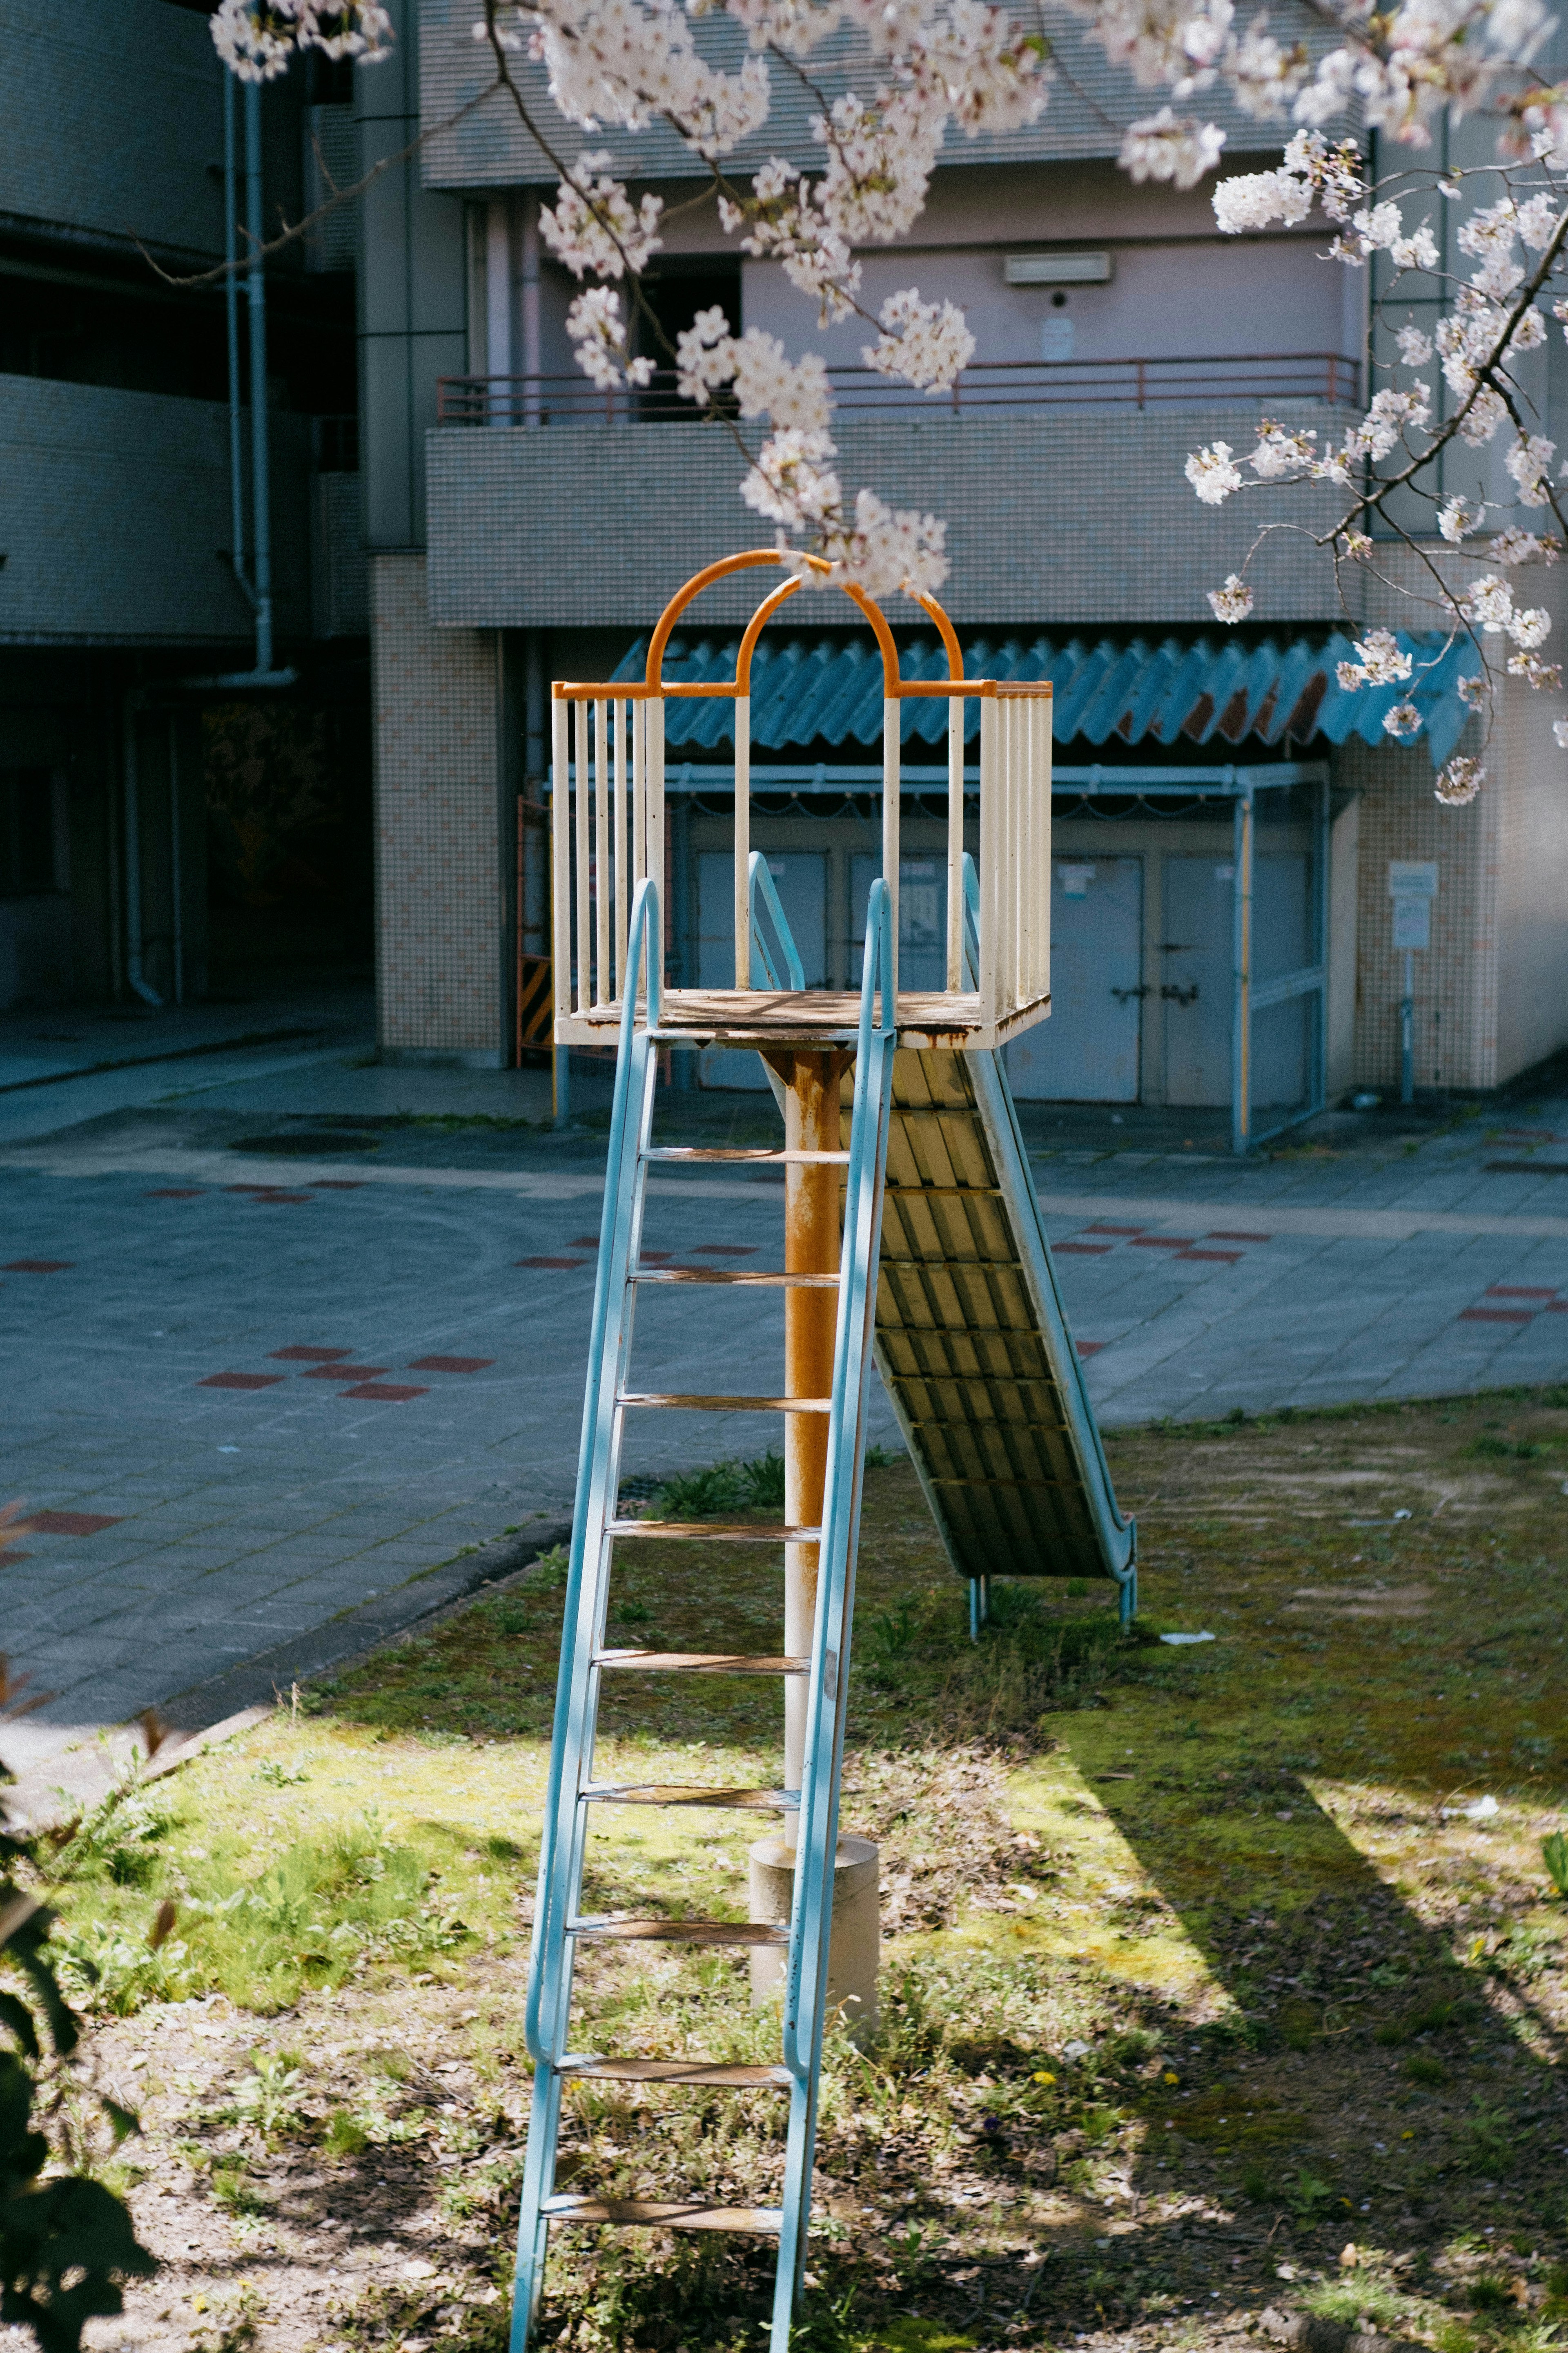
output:
[[[430,626],[421,555],[371,555],[371,666],[381,1054],[496,1068],[498,645]]]

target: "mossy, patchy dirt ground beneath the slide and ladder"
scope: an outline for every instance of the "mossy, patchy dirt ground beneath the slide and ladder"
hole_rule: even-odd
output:
[[[1126,1645],[1098,1588],[1004,1586],[971,1652],[912,1471],[867,1473],[844,1824],[882,1842],[882,2031],[830,2045],[799,2344],[1197,2353],[1276,2306],[1342,2325],[1319,2353],[1345,2325],[1544,2353],[1568,1393],[1110,1457],[1140,1520]],[[776,1647],[757,1548],[623,1553],[623,1640]],[[557,1631],[545,1565],[56,1859],[162,2261],[96,2346],[505,2344]],[[670,1680],[618,1678],[609,1772],[776,1774],[773,1689]],[[745,1817],[599,1812],[595,1908],[743,1918]],[[592,1951],[578,2017],[583,2047],[776,2054],[724,1953]],[[562,2179],[766,2200],[769,2099],[585,2085]],[[755,2353],[766,2292],[755,2242],[559,2231],[545,2339]]]

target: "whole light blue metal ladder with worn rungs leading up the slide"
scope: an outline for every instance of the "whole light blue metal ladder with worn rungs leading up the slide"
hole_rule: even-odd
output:
[[[752,908],[757,892],[776,918],[785,960],[795,967],[766,868],[752,861]],[[769,967],[771,969],[771,967]],[[844,1242],[839,1257],[839,1311],[832,1362],[827,1489],[823,1527],[778,1527],[778,1541],[820,1544],[816,1631],[809,1659],[731,1659],[625,1652],[604,1647],[611,1555],[618,1537],[656,1537],[658,1522],[621,1520],[621,1433],[628,1407],[696,1407],[719,1412],[790,1409],[783,1398],[644,1395],[628,1388],[632,1311],[637,1289],[670,1280],[639,1266],[642,1209],[649,1165],[656,1160],[755,1162],[759,1155],[722,1151],[658,1151],[651,1146],[654,1082],[661,1045],[663,946],[658,892],[637,885],[628,936],[621,1012],[621,1049],[609,1132],[604,1219],[599,1228],[599,1275],[583,1400],[576,1515],[562,1628],[562,1666],[555,1699],[555,1737],[538,1857],[538,1901],[527,1993],[527,2047],[534,2061],[534,2111],[517,2224],[517,2280],[512,2301],[512,2353],[527,2353],[538,2320],[545,2252],[552,2224],[642,2224],[686,2231],[778,2233],[778,2278],[769,2353],[788,2353],[795,2301],[806,2261],[811,2165],[816,2153],[816,2097],[827,2007],[827,1939],[832,1927],[832,1873],[839,1842],[839,1772],[844,1760],[844,1706],[849,1697],[849,1638],[853,1624],[856,1548],[860,1534],[860,1475],[865,1464],[865,1402],[872,1367],[872,1318],[877,1304],[877,1249],[882,1235],[882,1184],[893,1094],[898,1035],[893,1000],[893,941],[886,882],[877,880],[865,922],[865,969],[844,1193]],[[795,979],[795,969],[790,974]],[[644,991],[642,1019],[637,991]],[[795,979],[795,986],[799,981]],[[708,1278],[733,1285],[820,1282],[820,1275]],[[820,1409],[820,1405],[818,1405]],[[722,1537],[715,1527],[663,1527],[670,1537]],[[748,1537],[759,1537],[750,1529]],[[799,1791],[661,1788],[635,1791],[592,1779],[599,1678],[604,1671],[642,1668],[675,1673],[776,1673],[809,1675],[806,1751]],[[604,1802],[663,1802],[773,1807],[797,1814],[795,1904],[788,1929],[736,1920],[609,1920],[581,1913],[588,1812]],[[783,2052],[778,2066],[710,2066],[703,2061],[614,2059],[571,2052],[571,1965],[578,1941],[656,1941],[708,1946],[788,1946]],[[703,2207],[701,2202],[651,2198],[562,2195],[555,2188],[564,2087],[581,2078],[611,2082],[691,2082],[778,2087],[790,2094],[785,2174],[778,2207]]]

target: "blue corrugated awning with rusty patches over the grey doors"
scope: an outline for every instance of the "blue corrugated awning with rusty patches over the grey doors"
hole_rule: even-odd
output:
[[[1465,640],[1399,631],[1401,652],[1415,671],[1403,687],[1345,692],[1338,664],[1354,661],[1349,638],[1291,638],[1258,645],[1220,645],[1208,638],[1147,638],[1091,645],[1084,638],[973,638],[964,645],[969,678],[1048,678],[1056,687],[1058,744],[1284,744],[1326,736],[1345,744],[1387,744],[1382,715],[1413,701],[1422,718],[1422,741],[1441,767],[1465,732],[1469,706],[1460,680],[1481,664]],[[672,638],[665,654],[668,680],[736,675],[736,638]],[[639,678],[646,640],[616,668],[616,680]],[[945,678],[947,661],[936,638],[914,638],[898,649],[905,678]],[[731,741],[733,713],[722,696],[672,701],[665,741],[696,758]],[[905,744],[945,744],[945,701],[905,704]],[[806,751],[809,746],[882,744],[882,659],[870,633],[860,638],[764,638],[752,656],[755,751]]]

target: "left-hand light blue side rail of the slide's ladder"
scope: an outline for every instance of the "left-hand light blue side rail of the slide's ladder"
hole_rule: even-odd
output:
[[[609,1139],[611,1181],[604,1188],[604,1214],[599,1221],[599,1275],[595,1282],[583,1395],[578,1511],[574,1515],[567,1572],[562,1666],[555,1694],[550,1779],[538,1854],[538,1897],[534,1906],[534,1948],[529,1955],[524,2007],[524,2040],[534,2059],[534,2104],[517,2214],[512,2353],[524,2353],[538,2320],[550,2235],[543,2207],[555,2184],[574,1958],[567,1920],[571,1918],[583,1868],[588,1809],[581,1802],[581,1788],[597,1715],[599,1668],[595,1652],[602,1649],[604,1638],[611,1551],[609,1520],[614,1518],[621,1468],[616,1393],[625,1384],[630,1358],[635,1301],[630,1271],[637,1259],[642,1231],[642,1153],[654,1115],[654,1078],[658,1071],[646,1024],[639,1026],[635,1019],[637,965],[646,962],[646,1005],[654,1021],[658,1019],[661,993],[658,887],[646,880],[637,889],[632,908],[630,955]]]

